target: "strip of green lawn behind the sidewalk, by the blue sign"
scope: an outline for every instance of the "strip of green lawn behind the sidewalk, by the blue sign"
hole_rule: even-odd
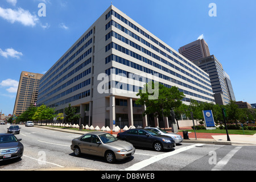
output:
[[[194,132],[194,130],[187,130],[189,132]],[[256,133],[256,130],[244,130],[245,135],[254,135]],[[196,133],[221,133],[226,134],[226,130],[196,130]],[[228,130],[229,134],[238,134],[243,135],[243,130]]]

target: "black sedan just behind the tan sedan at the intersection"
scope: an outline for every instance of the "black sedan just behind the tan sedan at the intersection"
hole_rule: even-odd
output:
[[[175,147],[175,141],[171,137],[159,135],[150,129],[131,129],[118,133],[117,138],[126,140],[138,147],[154,148],[155,151],[171,149]]]

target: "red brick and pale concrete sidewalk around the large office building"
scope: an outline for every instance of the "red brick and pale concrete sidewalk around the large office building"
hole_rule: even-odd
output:
[[[49,130],[63,131],[67,133],[75,134],[85,134],[86,131],[78,130],[69,130],[69,129],[60,129],[57,127],[49,126],[36,126]],[[170,129],[168,129],[170,130]],[[191,130],[191,127],[180,127],[180,130]],[[95,130],[92,130],[95,131]],[[111,133],[110,131],[105,131],[106,133]],[[116,136],[118,132],[113,132],[113,135]],[[183,137],[183,132],[179,131],[177,134]],[[188,133],[189,139],[184,139],[183,143],[206,143],[206,144],[225,144],[225,145],[256,145],[256,134],[255,135],[234,135],[229,134],[230,142],[227,140],[226,134],[215,134],[215,133]],[[197,138],[197,139],[196,139]]]

